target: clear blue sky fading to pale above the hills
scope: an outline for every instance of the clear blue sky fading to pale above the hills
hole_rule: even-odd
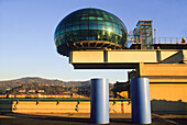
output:
[[[187,36],[186,0],[0,0],[0,81],[22,77],[127,81],[130,70],[75,70],[56,53],[54,31],[68,13],[98,8],[116,14],[128,31],[153,20],[157,36]]]

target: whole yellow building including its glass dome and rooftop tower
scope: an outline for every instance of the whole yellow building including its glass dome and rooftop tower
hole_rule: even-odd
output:
[[[55,44],[75,69],[133,69],[129,80],[150,79],[152,111],[185,113],[186,38],[161,38],[156,33],[153,38],[152,22],[140,20],[128,33],[116,15],[99,9],[81,9],[62,20],[55,31]],[[129,91],[129,81],[117,83],[113,91]]]

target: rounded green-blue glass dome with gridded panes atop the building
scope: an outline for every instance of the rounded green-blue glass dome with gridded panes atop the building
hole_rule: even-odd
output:
[[[122,48],[127,37],[127,27],[119,18],[92,8],[68,14],[57,25],[54,36],[58,53],[65,56],[70,49]]]

